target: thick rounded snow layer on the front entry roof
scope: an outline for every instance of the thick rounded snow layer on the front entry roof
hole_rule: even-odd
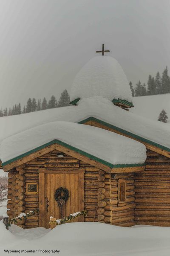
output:
[[[0,158],[6,162],[55,139],[112,164],[144,163],[146,159],[142,143],[72,122],[51,122],[8,137],[0,145]]]

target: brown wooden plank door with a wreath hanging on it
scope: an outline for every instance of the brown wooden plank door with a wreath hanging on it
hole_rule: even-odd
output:
[[[60,218],[60,209],[54,199],[55,191],[59,187],[66,188],[69,192],[68,201],[63,207],[64,216],[84,209],[84,169],[57,173],[55,170],[50,172],[44,169],[44,172],[43,170],[40,172],[39,178],[40,227],[50,227],[50,216]],[[84,221],[84,216],[80,216],[74,221]]]

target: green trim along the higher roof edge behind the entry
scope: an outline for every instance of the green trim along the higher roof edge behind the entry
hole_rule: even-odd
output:
[[[141,140],[141,141],[146,142],[146,143],[148,143],[148,144],[150,144],[150,145],[156,146],[157,148],[160,148],[160,149],[163,149],[163,150],[165,150],[165,151],[167,151],[167,152],[170,152],[170,148],[167,148],[167,147],[165,147],[165,146],[162,146],[162,145],[160,145],[160,144],[158,144],[158,143],[156,143],[156,142],[153,142],[153,141],[151,141],[151,140],[144,139],[143,137],[140,137],[140,136],[138,136],[138,135],[136,135],[136,134],[133,134],[133,133],[131,133],[131,132],[129,132],[129,131],[126,131],[126,130],[124,130],[124,129],[122,129],[122,128],[119,128],[119,127],[116,127],[116,126],[114,126],[114,125],[111,125],[111,124],[109,124],[109,123],[107,123],[107,122],[104,122],[104,121],[102,121],[102,120],[100,120],[100,119],[97,119],[97,118],[95,118],[95,117],[93,117],[93,116],[88,117],[87,119],[80,121],[79,124],[84,124],[85,122],[88,122],[88,121],[96,121],[96,122],[98,122],[98,123],[101,123],[102,125],[105,125],[105,126],[107,126],[107,127],[109,127],[109,128],[112,128],[112,129],[114,129],[114,130],[116,130],[116,131],[120,131],[121,133],[123,133],[123,134],[125,134],[125,135],[130,135],[130,136],[133,137],[134,139]]]

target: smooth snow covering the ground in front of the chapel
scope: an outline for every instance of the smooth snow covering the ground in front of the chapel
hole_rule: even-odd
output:
[[[169,256],[170,227],[116,227],[96,222],[62,224],[53,230],[23,230],[0,222],[0,255]],[[58,250],[59,253],[21,253],[21,250]]]

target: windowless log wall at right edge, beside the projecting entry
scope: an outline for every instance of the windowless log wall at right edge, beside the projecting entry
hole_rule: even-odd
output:
[[[135,175],[135,222],[170,226],[170,159],[147,150],[146,163]]]

